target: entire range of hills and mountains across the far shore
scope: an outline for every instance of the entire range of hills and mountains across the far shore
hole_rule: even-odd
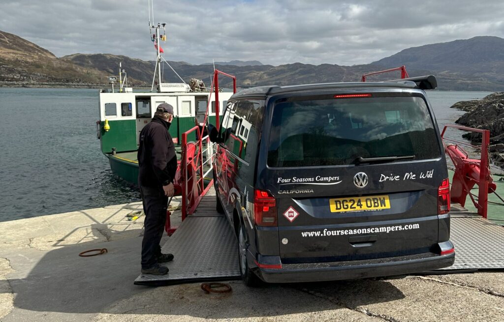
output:
[[[51,52],[16,35],[0,32],[0,86],[75,86],[108,87],[108,76],[117,75],[119,62],[128,73],[129,85],[150,87],[153,61],[111,54],[73,54],[57,58]],[[188,82],[195,77],[210,85],[212,64],[192,65],[169,61]],[[504,90],[504,39],[475,37],[449,43],[405,49],[371,64],[340,66],[292,63],[280,66],[263,65],[259,61],[217,62],[216,66],[237,77],[239,87],[262,85],[296,85],[326,82],[358,82],[369,71],[405,64],[410,76],[434,74],[440,90]],[[165,64],[164,82],[180,82]],[[399,78],[399,72],[376,75],[368,81]],[[223,77],[223,87],[231,81]]]

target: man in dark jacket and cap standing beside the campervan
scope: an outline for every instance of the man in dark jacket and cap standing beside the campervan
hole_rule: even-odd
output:
[[[168,197],[173,196],[177,170],[175,146],[168,129],[173,120],[173,106],[160,104],[152,121],[140,132],[138,148],[138,185],[145,212],[142,240],[142,273],[164,275],[172,254],[161,254],[159,245],[166,222]]]

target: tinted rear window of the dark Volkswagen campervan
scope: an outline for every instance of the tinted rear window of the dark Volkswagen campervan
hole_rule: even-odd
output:
[[[355,164],[358,157],[440,156],[421,97],[369,97],[277,103],[268,166]]]

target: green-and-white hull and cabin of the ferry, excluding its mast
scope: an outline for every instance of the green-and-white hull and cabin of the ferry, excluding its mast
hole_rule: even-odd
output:
[[[108,157],[112,171],[128,182],[137,183],[140,131],[151,121],[159,104],[168,103],[173,106],[174,116],[169,131],[176,148],[181,144],[182,133],[196,125],[203,126],[209,99],[211,104],[208,122],[216,123],[215,98],[210,92],[188,92],[190,89],[183,83],[169,84],[165,88],[168,89],[167,92],[159,93],[100,92],[100,121],[97,124],[101,151]],[[219,106],[226,106],[232,94],[219,93]],[[196,141],[195,133],[188,139]],[[180,153],[177,155],[180,156]]]

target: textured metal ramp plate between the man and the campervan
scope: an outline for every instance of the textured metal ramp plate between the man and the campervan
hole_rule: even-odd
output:
[[[214,197],[215,198],[215,197]],[[168,238],[163,253],[172,253],[166,275],[141,274],[137,285],[170,285],[240,279],[238,244],[223,215],[190,216]]]

